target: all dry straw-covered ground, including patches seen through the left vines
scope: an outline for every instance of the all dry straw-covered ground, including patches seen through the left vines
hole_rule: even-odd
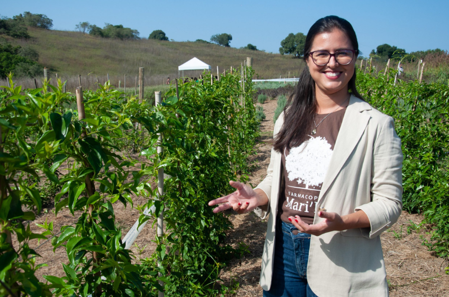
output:
[[[261,137],[258,139],[258,154],[249,161],[257,166],[250,176],[249,183],[254,186],[265,178],[265,171],[269,163],[272,131],[274,127],[273,115],[277,100],[267,100],[264,107],[266,120],[261,125]],[[61,168],[63,169],[63,168]],[[134,205],[143,203],[143,199],[133,197]],[[125,209],[121,203],[114,204],[114,211],[117,224],[122,228],[123,236],[139,218],[139,212],[129,205]],[[59,231],[61,226],[70,225],[79,217],[79,214],[72,216],[68,209],[62,209],[58,213],[58,218],[49,209],[48,214],[41,215],[36,219],[36,223],[43,223],[48,216],[48,220],[54,220],[54,230]],[[223,283],[232,285],[229,296],[255,297],[262,296],[262,289],[259,286],[259,275],[261,272],[261,256],[265,241],[266,221],[257,218],[253,213],[245,215],[230,214],[230,220],[234,229],[227,235],[227,243],[237,246],[240,242],[247,245],[249,254],[242,259],[231,260],[220,275]],[[403,212],[397,224],[381,235],[384,250],[385,264],[387,268],[387,278],[390,284],[390,296],[392,297],[449,297],[449,275],[444,270],[448,267],[447,259],[435,257],[422,245],[423,238],[430,238],[429,229],[411,230],[408,234],[410,222],[419,224],[421,216],[411,215]],[[41,233],[42,229],[35,224],[30,225],[33,232]],[[152,226],[152,221],[148,221],[142,233],[136,239],[135,245],[131,248],[137,257],[150,257],[155,249],[152,240],[155,238],[156,226]],[[42,244],[43,241],[40,243]],[[13,244],[17,246],[17,241]],[[30,242],[31,248],[38,247],[37,240]],[[138,248],[138,247],[139,248]],[[140,249],[143,252],[140,253]],[[39,269],[39,278],[43,281],[42,275],[54,275],[62,277],[64,275],[61,262],[67,263],[67,256],[62,247],[53,253],[50,242],[47,242],[37,249],[42,256],[37,259],[37,264],[46,262],[48,267]]]

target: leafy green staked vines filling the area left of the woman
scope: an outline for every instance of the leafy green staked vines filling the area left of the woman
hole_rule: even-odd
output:
[[[213,84],[180,84],[156,107],[106,82],[82,94],[85,117],[76,109],[76,97],[61,87],[44,81],[40,89],[22,91],[10,76],[11,87],[0,93],[1,296],[156,296],[158,291],[215,296],[224,291],[215,286],[219,268],[241,250],[223,243],[230,222],[213,214],[207,201],[232,191],[229,179],[247,180],[246,159],[259,126],[252,74],[248,68],[242,78],[226,74]],[[116,153],[122,150],[139,154]],[[163,193],[155,184],[161,169],[168,175]],[[47,221],[40,224],[41,234],[30,231],[42,208],[43,181],[60,189],[55,214],[67,208],[77,219],[60,234]],[[145,202],[133,205],[136,196]],[[116,203],[141,211],[154,206],[154,216],[142,213],[140,223],[163,212],[165,234],[154,238],[156,251],[141,264],[124,248]],[[36,272],[46,264],[36,265],[40,256],[30,241],[50,237],[53,250],[66,251],[65,276],[43,276],[42,282]]]

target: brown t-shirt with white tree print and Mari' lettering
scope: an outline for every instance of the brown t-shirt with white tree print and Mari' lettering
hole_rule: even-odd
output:
[[[329,115],[316,114],[316,134],[310,133],[310,138],[300,146],[284,149],[284,182],[281,184],[278,205],[283,221],[289,223],[288,217],[300,216],[307,224],[313,223],[315,203],[320,195],[345,112],[346,107]]]

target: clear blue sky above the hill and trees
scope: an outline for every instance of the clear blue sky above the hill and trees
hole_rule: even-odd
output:
[[[383,43],[407,52],[449,50],[449,0],[15,0],[3,1],[0,7],[6,17],[24,11],[45,14],[57,30],[74,30],[79,22],[88,21],[100,27],[105,22],[122,24],[145,38],[161,29],[175,41],[209,40],[228,33],[232,47],[251,43],[273,53],[279,52],[289,33],[306,34],[319,18],[337,15],[354,27],[364,56]]]

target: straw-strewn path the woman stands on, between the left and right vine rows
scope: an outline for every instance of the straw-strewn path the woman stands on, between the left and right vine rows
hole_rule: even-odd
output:
[[[265,178],[269,164],[276,104],[277,100],[268,100],[262,104],[266,119],[261,125],[258,154],[250,160],[257,164],[249,179],[249,183],[254,186]],[[231,260],[222,270],[221,278],[226,285],[232,285],[233,292],[229,296],[262,297],[259,275],[266,221],[253,213],[237,215],[233,212],[229,218],[234,229],[228,232],[228,243],[235,246],[240,242],[245,243],[249,254],[240,260]],[[422,245],[422,237],[430,239],[430,227],[410,230],[408,233],[409,220],[419,224],[422,219],[422,216],[403,212],[398,222],[381,235],[392,297],[449,297],[449,275],[445,274],[448,259],[435,257]],[[236,285],[236,281],[240,284]]]

